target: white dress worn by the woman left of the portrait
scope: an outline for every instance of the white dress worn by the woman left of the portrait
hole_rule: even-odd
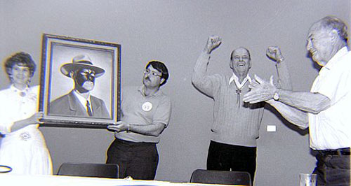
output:
[[[52,174],[51,157],[38,124],[11,132],[15,121],[37,112],[39,86],[21,92],[13,85],[0,91],[0,165],[10,166],[15,174]]]

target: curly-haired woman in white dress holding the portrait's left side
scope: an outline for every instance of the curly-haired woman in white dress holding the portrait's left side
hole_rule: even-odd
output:
[[[0,91],[0,165],[15,174],[52,174],[51,157],[39,131],[39,87],[29,87],[35,71],[30,55],[18,52],[5,62],[11,85]]]

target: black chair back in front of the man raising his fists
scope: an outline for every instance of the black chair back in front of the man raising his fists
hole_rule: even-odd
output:
[[[250,185],[251,176],[241,171],[208,171],[197,169],[192,172],[190,183],[208,183],[221,185]]]

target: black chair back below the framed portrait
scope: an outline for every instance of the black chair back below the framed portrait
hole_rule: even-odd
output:
[[[117,164],[63,163],[57,175],[119,178],[119,166]]]

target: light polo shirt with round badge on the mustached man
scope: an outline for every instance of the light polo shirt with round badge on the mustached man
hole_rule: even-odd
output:
[[[143,86],[124,87],[121,100],[121,120],[130,124],[152,124],[161,122],[168,125],[171,117],[171,99],[166,94],[157,91],[151,96],[145,96]],[[159,143],[160,136],[147,136],[134,132],[115,132],[114,136],[121,140],[132,142]]]

